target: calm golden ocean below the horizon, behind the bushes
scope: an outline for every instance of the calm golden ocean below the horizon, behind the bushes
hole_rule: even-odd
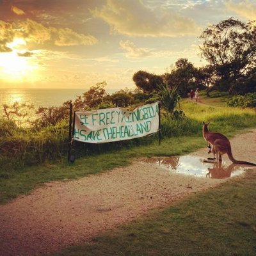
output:
[[[88,89],[1,89],[0,88],[0,108],[3,104],[13,104],[14,102],[34,104],[51,107],[61,106],[67,100],[75,100],[77,96],[83,95]],[[115,90],[107,90],[113,93]]]

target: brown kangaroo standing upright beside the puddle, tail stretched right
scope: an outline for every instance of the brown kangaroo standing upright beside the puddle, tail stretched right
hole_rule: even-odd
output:
[[[207,145],[211,145],[211,152],[213,154],[216,154],[217,163],[221,161],[222,155],[227,154],[230,161],[232,161],[232,163],[234,164],[248,164],[256,166],[256,164],[254,163],[238,161],[234,159],[232,155],[230,141],[228,140],[228,138],[219,132],[210,132],[208,127],[209,124],[210,122],[203,122],[203,136],[205,141],[207,142]]]

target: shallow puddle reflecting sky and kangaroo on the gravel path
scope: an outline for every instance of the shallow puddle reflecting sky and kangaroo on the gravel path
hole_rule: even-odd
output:
[[[207,177],[212,179],[227,179],[241,175],[252,168],[232,163],[207,163],[205,159],[197,156],[152,157],[144,159],[147,163],[154,163],[168,170],[168,172]]]

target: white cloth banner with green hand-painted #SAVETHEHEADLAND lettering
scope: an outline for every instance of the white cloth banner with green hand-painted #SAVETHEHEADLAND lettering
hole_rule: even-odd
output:
[[[131,140],[157,132],[157,102],[127,111],[124,108],[76,112],[74,140],[87,143]]]

